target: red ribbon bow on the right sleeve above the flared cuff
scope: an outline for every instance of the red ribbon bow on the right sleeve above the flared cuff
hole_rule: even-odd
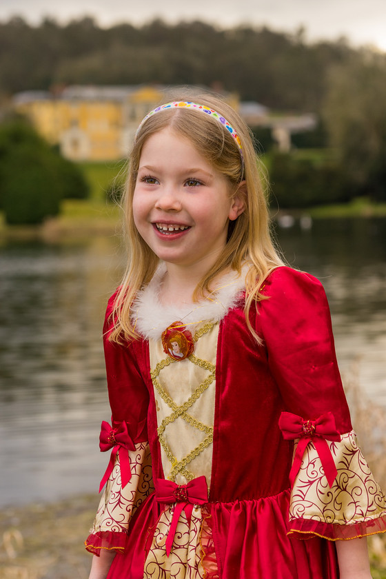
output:
[[[336,430],[334,415],[331,412],[327,412],[316,420],[304,420],[301,416],[296,416],[296,414],[291,412],[282,412],[278,425],[285,440],[299,438],[290,471],[291,485],[294,485],[296,475],[301,468],[303,454],[308,443],[312,440],[321,459],[329,487],[332,487],[338,471],[326,440],[341,441],[341,435]]]

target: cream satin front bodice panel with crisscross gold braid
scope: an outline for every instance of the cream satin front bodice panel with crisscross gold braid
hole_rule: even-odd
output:
[[[219,323],[201,324],[192,334],[194,352],[185,360],[150,339],[151,376],[165,478],[185,485],[203,475],[210,487]]]

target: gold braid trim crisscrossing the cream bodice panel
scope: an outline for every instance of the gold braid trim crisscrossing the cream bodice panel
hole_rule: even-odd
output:
[[[206,323],[199,330],[197,330],[193,338],[194,343],[196,343],[199,340],[199,338],[201,338],[201,336],[207,334],[207,332],[210,332],[210,330],[212,329],[212,327],[214,327],[214,325],[215,323],[209,322]],[[203,394],[203,392],[205,392],[205,390],[216,379],[216,366],[208,362],[207,360],[201,360],[201,358],[197,358],[196,356],[194,356],[194,354],[191,354],[186,359],[189,360],[190,363],[207,370],[207,372],[209,372],[209,375],[194,390],[193,394],[180,406],[176,405],[176,403],[174,402],[174,400],[172,400],[169,394],[165,392],[165,389],[162,387],[161,383],[158,380],[159,374],[162,369],[176,362],[181,363],[180,360],[174,360],[173,358],[170,358],[170,356],[167,356],[167,358],[164,358],[159,363],[157,363],[154,370],[150,372],[154,388],[159,393],[159,396],[161,396],[162,400],[173,411],[172,414],[166,416],[166,418],[162,420],[161,425],[158,427],[157,430],[159,442],[163,447],[163,450],[165,451],[167,459],[170,460],[170,463],[172,465],[172,470],[170,471],[169,476],[167,477],[169,480],[174,480],[176,478],[176,475],[179,473],[185,476],[187,480],[192,480],[194,478],[194,474],[192,474],[189,470],[185,468],[186,465],[191,463],[192,460],[196,458],[196,456],[199,456],[199,454],[201,454],[201,452],[203,452],[205,448],[209,447],[213,443],[213,427],[201,423],[200,420],[196,420],[196,418],[193,418],[193,416],[187,413],[187,410],[190,407],[192,407],[192,405],[194,405],[194,403],[197,400],[199,400],[201,394]],[[172,454],[172,451],[170,450],[170,447],[167,445],[165,437],[163,436],[163,433],[165,432],[167,425],[173,423],[174,420],[179,418],[179,416],[181,416],[181,418],[183,418],[183,420],[185,420],[192,427],[202,432],[205,432],[205,434],[207,435],[205,436],[204,440],[196,448],[192,449],[192,451],[190,451],[190,453],[187,454],[187,456],[185,456],[182,460],[178,460]]]

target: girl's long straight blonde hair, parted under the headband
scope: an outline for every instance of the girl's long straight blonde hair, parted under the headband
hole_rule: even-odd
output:
[[[191,101],[188,98],[174,95],[170,101]],[[165,101],[166,102],[166,101]],[[236,130],[243,146],[243,157],[233,137],[218,121],[210,116],[190,108],[167,109],[150,116],[139,132],[130,154],[130,165],[125,183],[122,207],[125,215],[125,236],[128,241],[129,260],[123,281],[116,294],[112,309],[114,327],[110,340],[118,343],[137,339],[139,335],[132,323],[132,303],[146,284],[150,282],[159,258],[152,252],[140,236],[134,225],[132,199],[143,145],[149,137],[164,128],[171,128],[192,143],[192,145],[230,181],[231,189],[236,189],[245,180],[245,210],[236,221],[230,222],[228,240],[213,267],[203,276],[194,292],[194,299],[211,291],[211,283],[221,272],[232,269],[241,274],[241,267],[246,262],[250,268],[245,277],[247,299],[245,302],[245,319],[247,326],[258,340],[250,324],[249,312],[254,301],[261,299],[260,290],[265,278],[275,267],[283,265],[270,236],[269,214],[265,199],[263,179],[258,169],[258,159],[254,150],[252,134],[241,117],[230,105],[213,94],[194,94],[194,102],[208,106],[222,116]],[[258,340],[259,341],[259,340]]]

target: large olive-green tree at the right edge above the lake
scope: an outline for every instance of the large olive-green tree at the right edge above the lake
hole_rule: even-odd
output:
[[[329,143],[356,194],[386,200],[386,59],[363,51],[336,68],[324,105]]]

